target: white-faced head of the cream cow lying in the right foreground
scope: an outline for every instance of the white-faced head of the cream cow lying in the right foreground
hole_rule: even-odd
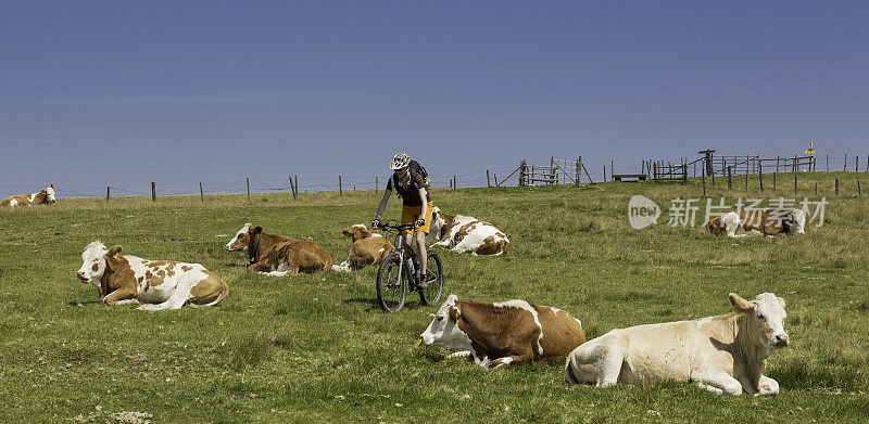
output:
[[[790,338],[784,332],[784,299],[772,293],[761,293],[752,301],[735,293],[729,295],[730,303],[740,313],[747,314],[741,329],[748,332],[748,338],[758,347],[767,349],[788,346]]]

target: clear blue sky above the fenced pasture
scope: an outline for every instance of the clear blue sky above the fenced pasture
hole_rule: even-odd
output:
[[[398,151],[468,178],[865,156],[867,22],[859,1],[7,1],[0,192],[382,180]]]

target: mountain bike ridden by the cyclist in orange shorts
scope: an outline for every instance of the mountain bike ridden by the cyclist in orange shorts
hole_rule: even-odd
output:
[[[415,229],[416,226],[392,226],[380,223],[380,229],[395,231],[395,248],[380,262],[377,270],[377,301],[386,312],[398,312],[404,307],[408,288],[419,292],[419,301],[429,305],[438,301],[443,293],[443,265],[437,252],[428,250],[428,287],[418,287],[419,282],[419,254],[414,249],[414,244],[404,243],[404,229]]]

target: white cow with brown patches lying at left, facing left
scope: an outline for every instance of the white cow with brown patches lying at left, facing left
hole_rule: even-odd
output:
[[[199,264],[119,256],[122,249],[106,250],[101,242],[91,242],[76,272],[83,283],[99,288],[98,298],[106,305],[144,304],[140,310],[203,307],[221,303],[229,293],[226,282]]]

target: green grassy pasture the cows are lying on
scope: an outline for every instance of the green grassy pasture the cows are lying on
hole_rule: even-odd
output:
[[[574,387],[562,367],[544,363],[481,369],[446,359],[441,348],[415,347],[438,305],[408,296],[401,312],[380,312],[375,268],[268,278],[248,273],[244,260],[223,248],[252,222],[316,241],[340,262],[349,247],[341,230],[374,215],[370,191],[303,193],[298,201],[255,194],[250,203],[241,195],[204,204],[198,196],[61,200],[3,209],[0,420],[866,422],[869,198],[852,196],[862,176],[801,174],[801,198],[816,200],[818,183],[818,197],[829,201],[824,226],[766,240],[667,226],[670,200],[700,197],[698,180],[433,190],[441,209],[488,220],[513,243],[502,257],[441,252],[444,297],[556,306],[581,319],[589,338],[726,313],[729,292],[784,297],[791,346],[773,352],[766,372],[781,385],[776,398],[722,397],[685,384]],[[717,182],[708,188],[715,202],[746,196]],[[779,175],[778,193],[765,183],[766,192],[747,196],[793,197],[792,175]],[[665,207],[658,226],[629,227],[633,194]],[[399,205],[393,198],[385,217],[396,219]],[[200,262],[229,283],[229,296],[217,307],[164,312],[98,304],[96,290],[75,279],[93,240],[143,258]]]

